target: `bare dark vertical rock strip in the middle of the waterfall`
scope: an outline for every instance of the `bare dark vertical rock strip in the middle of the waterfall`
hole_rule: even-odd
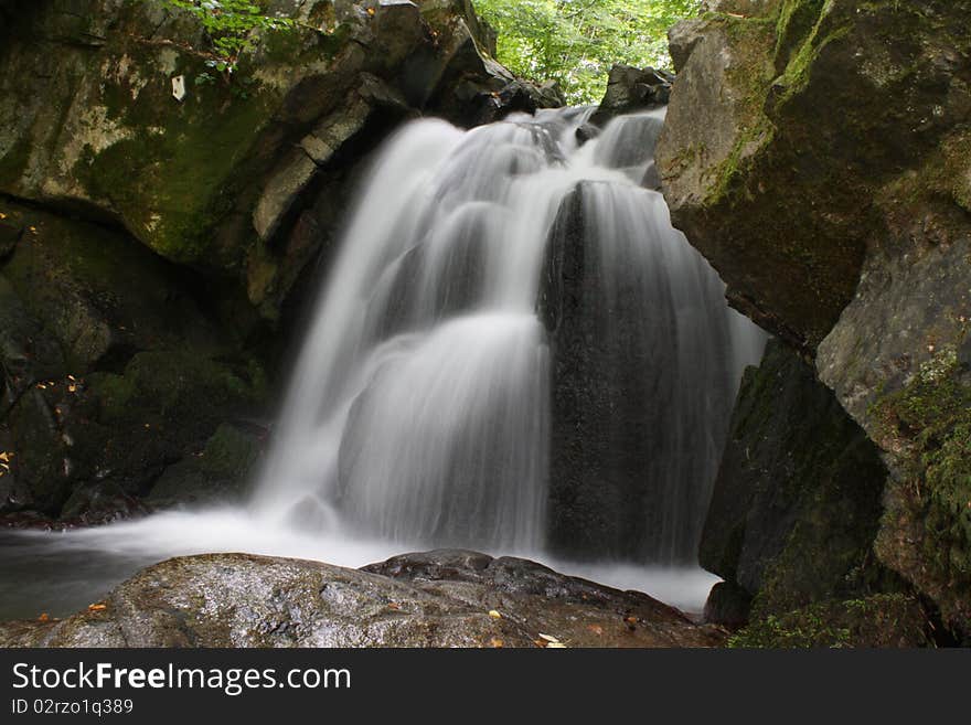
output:
[[[634,532],[645,527],[637,502],[653,452],[650,423],[671,404],[663,395],[673,371],[636,344],[640,335],[621,331],[606,344],[607,310],[596,303],[605,271],[587,238],[583,194],[581,185],[564,201],[554,224],[541,302],[553,359],[549,537],[567,555],[633,556],[642,553]],[[620,324],[642,323],[612,312]],[[618,379],[618,370],[628,373]],[[661,394],[653,416],[643,408],[651,391]]]

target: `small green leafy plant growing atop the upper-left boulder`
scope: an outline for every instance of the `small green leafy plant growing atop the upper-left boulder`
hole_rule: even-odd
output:
[[[253,46],[254,31],[291,28],[294,21],[267,15],[253,0],[161,0],[163,4],[195,15],[212,45],[210,67],[231,74],[239,55]]]

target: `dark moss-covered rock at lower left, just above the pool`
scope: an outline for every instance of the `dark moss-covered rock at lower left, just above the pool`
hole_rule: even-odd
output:
[[[253,454],[226,430],[206,441],[224,422],[256,414],[263,396],[255,363],[192,352],[141,352],[121,374],[49,381],[29,391],[8,420],[13,472],[31,492],[20,508],[95,522],[114,518],[103,505],[109,500],[128,515],[138,511],[130,500],[146,495],[169,467],[205,450],[211,470],[228,480]],[[102,495],[105,486],[124,497]]]

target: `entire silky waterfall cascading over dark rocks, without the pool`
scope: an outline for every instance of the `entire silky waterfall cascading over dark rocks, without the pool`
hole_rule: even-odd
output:
[[[580,146],[591,110],[470,131],[417,120],[388,141],[317,300],[258,515],[500,551],[578,526],[590,554],[692,558],[764,335],[648,188],[663,111]],[[590,284],[573,288],[554,263],[579,257]],[[599,446],[570,427],[583,401],[563,392],[580,382],[623,416],[584,419]],[[577,473],[583,491],[564,494]],[[607,541],[617,532],[627,543]]]

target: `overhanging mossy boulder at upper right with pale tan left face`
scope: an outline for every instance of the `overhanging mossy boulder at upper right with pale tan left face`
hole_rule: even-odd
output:
[[[967,122],[964,3],[718,3],[676,35],[672,218],[734,303],[812,353],[887,246],[872,199]],[[744,3],[743,3],[744,4]],[[920,122],[915,122],[920,118]]]

